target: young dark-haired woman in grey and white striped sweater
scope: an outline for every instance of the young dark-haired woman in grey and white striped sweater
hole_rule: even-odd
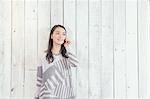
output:
[[[77,67],[78,59],[70,44],[64,26],[52,27],[47,51],[37,67],[36,99],[75,99],[71,67]]]

